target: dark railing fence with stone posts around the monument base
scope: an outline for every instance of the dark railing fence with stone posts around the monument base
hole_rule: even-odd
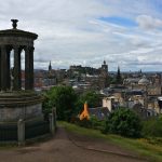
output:
[[[33,139],[43,135],[54,135],[56,131],[56,109],[49,114],[49,120],[25,121],[0,123],[0,143],[17,141],[18,145],[25,140]]]

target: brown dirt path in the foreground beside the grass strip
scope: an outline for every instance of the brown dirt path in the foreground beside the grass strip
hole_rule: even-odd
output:
[[[84,140],[83,140],[84,139]],[[67,134],[58,127],[55,137],[30,147],[0,150],[0,162],[143,162],[114,146],[91,141],[84,137]],[[104,150],[109,150],[104,152]],[[95,150],[96,149],[96,150]],[[99,151],[99,149],[103,151]],[[119,150],[118,150],[119,149]],[[111,152],[112,151],[112,152]],[[117,153],[116,153],[117,151]],[[119,151],[119,152],[118,152]],[[120,154],[121,153],[121,154]],[[122,154],[123,153],[123,154]],[[125,154],[124,154],[125,153]],[[127,156],[126,156],[127,153]]]

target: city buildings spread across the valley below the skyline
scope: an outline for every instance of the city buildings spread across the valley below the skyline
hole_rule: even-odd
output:
[[[67,70],[52,69],[50,62],[49,70],[35,70],[35,89],[70,85],[78,93],[93,90],[103,95],[103,107],[109,111],[127,107],[143,118],[162,113],[161,73],[143,73],[141,70],[119,72],[119,67],[118,72],[109,72],[105,60],[99,68],[72,65]],[[117,75],[121,76],[119,84],[118,81],[114,82]]]

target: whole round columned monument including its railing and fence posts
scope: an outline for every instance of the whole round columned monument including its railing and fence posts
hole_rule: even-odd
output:
[[[0,141],[24,143],[50,133],[42,113],[42,97],[33,91],[33,41],[38,35],[17,29],[0,30]],[[25,53],[25,85],[22,87],[22,54]],[[13,52],[13,68],[11,68]]]

